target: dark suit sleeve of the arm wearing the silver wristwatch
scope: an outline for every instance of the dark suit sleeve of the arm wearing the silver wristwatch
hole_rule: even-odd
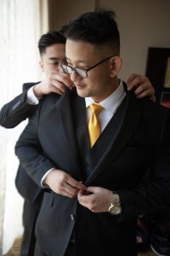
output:
[[[122,204],[121,220],[164,211],[170,207],[170,112],[162,124],[155,160],[150,169],[150,178],[139,183],[133,190],[120,190]]]

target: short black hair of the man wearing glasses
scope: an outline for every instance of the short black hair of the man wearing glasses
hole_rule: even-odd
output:
[[[112,47],[115,55],[120,54],[120,34],[115,20],[115,12],[96,9],[80,15],[68,23],[65,36],[75,41]]]

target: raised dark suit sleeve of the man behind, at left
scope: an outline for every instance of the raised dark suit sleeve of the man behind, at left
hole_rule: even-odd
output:
[[[35,83],[23,84],[24,92],[3,106],[0,112],[0,125],[5,128],[14,128],[26,118],[31,117],[37,105],[26,103],[26,96],[27,90],[34,84]]]

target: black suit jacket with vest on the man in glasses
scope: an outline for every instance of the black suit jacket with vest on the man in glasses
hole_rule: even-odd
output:
[[[170,205],[170,117],[150,100],[127,96],[89,148],[85,101],[76,91],[42,99],[16,144],[16,154],[37,184],[52,167],[86,185],[118,191],[120,217],[94,213],[53,191],[44,193],[37,240],[50,256],[62,256],[74,229],[78,256],[133,256],[136,222]],[[141,183],[150,168],[148,183]]]

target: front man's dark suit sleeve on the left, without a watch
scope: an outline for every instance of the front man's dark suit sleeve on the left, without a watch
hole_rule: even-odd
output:
[[[41,108],[40,105],[31,116],[31,119],[29,119],[28,125],[26,125],[25,130],[21,133],[15,145],[15,154],[18,156],[21,166],[26,169],[28,175],[31,176],[38,186],[41,185],[43,175],[49,169],[55,167],[53,161],[42,152],[42,147],[38,140],[37,123],[39,108]]]

